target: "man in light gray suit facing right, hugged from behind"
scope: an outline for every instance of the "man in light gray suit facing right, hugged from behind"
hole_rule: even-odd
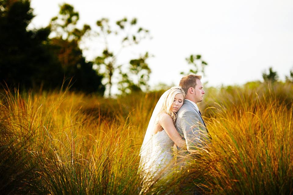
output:
[[[183,140],[186,141],[187,151],[177,147],[177,165],[184,169],[188,157],[196,157],[201,148],[208,147],[212,137],[208,133],[201,112],[196,105],[203,100],[205,94],[201,76],[193,74],[183,76],[179,86],[185,91],[185,100],[177,112],[175,126]]]

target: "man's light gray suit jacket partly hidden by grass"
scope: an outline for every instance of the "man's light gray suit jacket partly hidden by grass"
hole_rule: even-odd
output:
[[[188,154],[196,154],[200,148],[208,147],[211,137],[197,109],[190,101],[184,101],[177,112],[176,129],[183,140],[186,140],[187,152],[177,147],[177,163],[183,163]]]

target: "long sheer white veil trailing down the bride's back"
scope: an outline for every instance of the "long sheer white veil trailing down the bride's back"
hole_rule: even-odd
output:
[[[157,115],[161,111],[161,108],[163,107],[164,99],[168,91],[169,90],[165,91],[164,94],[161,95],[159,101],[157,102],[154,108],[153,114],[150,117],[150,122],[147,126],[146,135],[144,136],[144,139],[143,139],[143,144],[139,151],[140,162],[139,162],[139,168],[138,168],[137,174],[139,174],[141,178],[143,178],[148,173],[148,168],[150,168],[149,161],[151,159],[151,154],[153,151],[152,133],[154,128],[154,122]]]

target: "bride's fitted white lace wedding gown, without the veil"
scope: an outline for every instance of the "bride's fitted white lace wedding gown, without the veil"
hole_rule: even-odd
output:
[[[152,152],[148,161],[147,170],[143,176],[143,185],[140,194],[149,189],[154,182],[165,179],[174,167],[173,145],[174,142],[165,130],[157,132],[151,137]]]

